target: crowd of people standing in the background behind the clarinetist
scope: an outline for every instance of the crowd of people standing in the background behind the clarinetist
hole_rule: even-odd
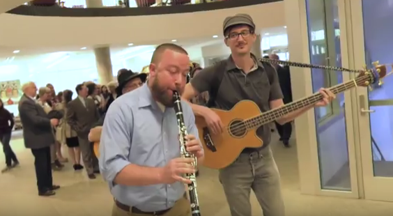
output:
[[[201,70],[201,67],[197,63],[190,65],[191,76],[199,70]],[[95,84],[94,82],[78,84],[75,87],[77,97],[73,97],[74,93],[70,89],[56,94],[52,84],[47,84],[38,89],[36,89],[36,85],[33,82],[24,84],[22,86],[24,96],[21,98],[19,105],[20,118],[24,130],[25,145],[27,148],[31,148],[33,155],[36,157],[37,178],[40,179],[39,176],[46,176],[43,179],[52,178],[52,173],[49,174],[49,169],[44,169],[43,167],[49,166],[52,171],[61,171],[64,164],[68,162],[72,163],[75,171],[85,169],[88,178],[96,178],[95,174],[100,173],[100,171],[92,143],[100,141],[102,124],[104,123],[107,109],[116,98],[142,86],[146,82],[147,77],[146,73],[121,69],[118,71],[116,82],[109,82],[107,85]],[[72,100],[72,98],[75,99]],[[196,98],[195,102],[198,101],[199,99]],[[33,107],[36,109],[38,116],[41,114],[42,116],[52,117],[50,119],[50,124],[52,125],[50,130],[45,128],[54,137],[53,141],[52,139],[45,141],[47,144],[44,145],[45,149],[48,147],[49,151],[40,151],[38,153],[35,149],[40,149],[43,144],[36,146],[36,144],[33,144],[33,141],[29,141],[35,139],[37,130],[33,130],[33,128],[40,124],[40,122],[37,122],[38,119],[31,116],[31,111],[26,113],[26,107],[29,107],[26,104],[29,104],[29,102],[30,104],[34,102],[38,107],[42,108],[41,110],[37,106]],[[29,125],[33,127],[29,127]],[[3,144],[3,151],[6,156],[6,167],[1,170],[2,173],[10,171],[19,165],[19,161],[10,147],[13,126],[14,116],[4,108],[3,102],[0,100],[0,141]],[[29,145],[30,143],[31,145]],[[63,156],[62,146],[64,145],[67,146],[70,159]],[[49,153],[49,155],[46,153]],[[81,157],[84,165],[82,165]],[[48,159],[50,163],[43,161],[43,158]],[[43,184],[38,180],[40,195],[54,194],[53,190],[43,189],[43,186],[40,185]]]

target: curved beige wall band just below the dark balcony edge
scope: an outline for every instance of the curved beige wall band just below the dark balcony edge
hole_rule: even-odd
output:
[[[0,46],[86,47],[208,39],[222,35],[226,16],[248,13],[260,30],[285,26],[283,11],[284,3],[280,1],[195,13],[128,17],[34,17],[5,13],[0,15]]]

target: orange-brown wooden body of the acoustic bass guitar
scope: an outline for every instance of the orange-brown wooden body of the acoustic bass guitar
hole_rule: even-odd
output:
[[[263,141],[256,136],[256,129],[247,130],[245,124],[241,122],[242,120],[261,115],[261,110],[254,102],[242,100],[229,111],[212,110],[215,111],[224,124],[222,134],[214,135],[209,133],[205,119],[200,116],[195,117],[199,139],[205,151],[203,166],[211,169],[228,167],[238,158],[243,149],[259,148],[263,145]]]

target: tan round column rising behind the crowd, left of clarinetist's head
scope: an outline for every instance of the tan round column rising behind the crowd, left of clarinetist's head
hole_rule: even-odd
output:
[[[100,84],[107,84],[114,79],[111,63],[111,52],[109,47],[94,49],[95,65],[97,66]]]

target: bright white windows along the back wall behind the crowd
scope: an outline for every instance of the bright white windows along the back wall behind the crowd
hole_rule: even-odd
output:
[[[151,62],[155,45],[141,45],[111,48],[111,63],[114,77],[121,68],[141,72],[144,66]],[[187,49],[187,47],[186,47]],[[199,50],[199,52],[198,52]],[[53,52],[23,56],[20,53],[0,58],[0,98],[6,108],[17,116],[17,101],[22,95],[20,87],[25,82],[35,82],[38,88],[50,83],[55,91],[70,89],[82,82],[99,82],[92,49],[83,47],[74,52]],[[201,46],[194,46],[189,52],[190,59],[202,59]],[[1,61],[3,60],[3,61]]]

